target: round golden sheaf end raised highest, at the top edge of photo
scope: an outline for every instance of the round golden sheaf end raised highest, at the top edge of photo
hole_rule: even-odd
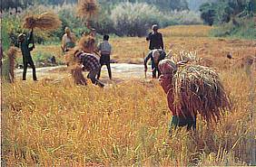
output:
[[[98,13],[99,7],[95,0],[79,0],[77,5],[78,16],[89,19]]]

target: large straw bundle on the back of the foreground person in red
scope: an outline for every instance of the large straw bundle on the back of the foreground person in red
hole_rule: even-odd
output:
[[[177,69],[172,75],[172,90],[176,109],[185,108],[207,122],[216,122],[230,100],[216,70],[199,65],[195,51],[182,51],[173,56]]]

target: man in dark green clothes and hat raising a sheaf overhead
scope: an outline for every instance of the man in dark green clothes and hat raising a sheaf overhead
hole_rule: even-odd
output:
[[[27,70],[27,65],[29,64],[30,67],[33,70],[33,79],[36,79],[36,75],[35,75],[35,67],[34,67],[34,61],[32,60],[30,51],[32,51],[34,49],[34,40],[33,40],[34,36],[33,36],[33,29],[30,32],[29,37],[27,38],[26,35],[24,33],[21,33],[18,35],[18,42],[20,42],[20,47],[21,47],[21,51],[22,51],[22,55],[23,55],[23,64],[24,64],[24,71],[23,71],[23,80],[25,80],[25,76],[26,76],[26,70]],[[29,46],[29,44],[32,43],[32,46]]]

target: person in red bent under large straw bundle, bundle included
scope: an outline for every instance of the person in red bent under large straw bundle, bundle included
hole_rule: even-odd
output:
[[[196,60],[182,60],[186,63],[170,59],[159,63],[159,80],[172,111],[170,133],[177,126],[195,130],[197,114],[206,122],[216,122],[222,109],[231,107],[215,70],[198,65]]]

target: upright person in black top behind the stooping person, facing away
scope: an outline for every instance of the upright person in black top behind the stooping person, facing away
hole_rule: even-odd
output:
[[[150,41],[150,50],[154,49],[162,49],[163,50],[163,42],[162,42],[162,33],[157,32],[158,26],[157,24],[153,24],[152,26],[153,32],[150,32],[146,37],[146,41]]]

